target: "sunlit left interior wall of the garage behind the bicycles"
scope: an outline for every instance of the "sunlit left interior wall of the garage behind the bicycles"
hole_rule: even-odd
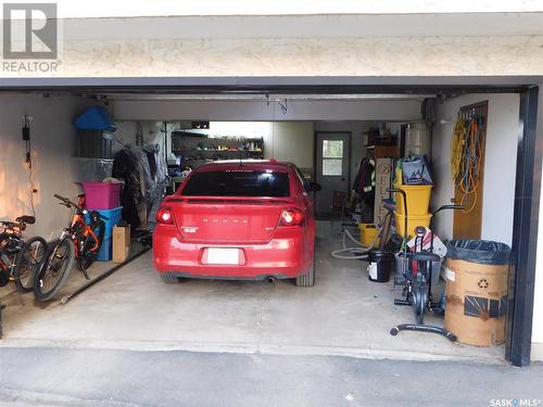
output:
[[[43,98],[41,94],[0,94],[0,218],[31,215],[28,167],[22,139],[23,115],[30,123],[36,225],[26,236],[56,238],[66,226],[70,211],[58,205],[54,193],[74,199],[79,186],[72,182],[72,157],[76,147],[74,119],[88,101],[77,97]]]

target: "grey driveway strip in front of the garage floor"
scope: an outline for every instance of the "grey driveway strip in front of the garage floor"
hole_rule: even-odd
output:
[[[3,348],[0,364],[0,404],[10,407],[515,407],[543,398],[542,365],[35,347]]]

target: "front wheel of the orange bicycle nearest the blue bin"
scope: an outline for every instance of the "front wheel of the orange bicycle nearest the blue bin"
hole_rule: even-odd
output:
[[[34,279],[34,296],[38,301],[51,300],[66,282],[75,258],[75,244],[62,239],[48,253]]]

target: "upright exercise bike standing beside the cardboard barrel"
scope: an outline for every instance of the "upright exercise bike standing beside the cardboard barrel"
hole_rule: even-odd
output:
[[[433,253],[433,231],[430,220],[430,227],[424,226],[415,228],[415,252],[407,251],[407,200],[406,194],[401,189],[391,188],[390,192],[397,192],[403,195],[405,211],[405,227],[402,257],[402,300],[394,300],[394,305],[412,306],[415,313],[416,323],[401,323],[390,330],[390,334],[395,336],[400,331],[417,331],[437,333],[445,336],[451,342],[456,342],[456,335],[444,328],[425,325],[425,313],[443,314],[440,302],[433,301],[432,295],[432,266],[434,263],[441,263],[441,257]],[[443,205],[432,213],[431,219],[444,209],[464,209],[464,205]],[[425,238],[429,237],[430,246],[425,250]]]

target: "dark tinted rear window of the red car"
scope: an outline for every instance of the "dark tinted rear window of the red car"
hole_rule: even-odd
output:
[[[195,171],[181,191],[188,196],[289,196],[289,175],[273,170]]]

